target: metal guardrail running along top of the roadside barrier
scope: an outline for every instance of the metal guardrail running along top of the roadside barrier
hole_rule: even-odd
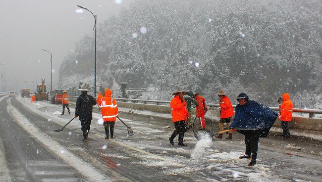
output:
[[[52,95],[51,95],[52,96]],[[69,96],[70,98],[77,98],[78,96]],[[94,97],[97,98],[97,97]],[[144,104],[146,103],[156,103],[156,105],[159,105],[160,103],[165,103],[165,104],[170,104],[170,101],[165,101],[165,100],[144,100],[144,99],[133,99],[133,98],[114,98],[116,101],[130,101],[133,103],[140,103],[143,102]],[[209,103],[207,104],[208,106],[211,107],[219,107],[219,104],[214,104],[214,103]],[[236,107],[236,105],[232,105],[233,108]],[[269,107],[270,109],[274,111],[279,111],[279,107]],[[313,118],[314,114],[322,114],[321,109],[301,109],[301,108],[293,108],[293,112],[298,112],[298,113],[309,113],[309,117]]]

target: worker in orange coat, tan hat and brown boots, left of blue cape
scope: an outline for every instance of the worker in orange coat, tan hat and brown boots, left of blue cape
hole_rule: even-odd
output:
[[[227,93],[223,90],[218,92],[219,97],[219,106],[220,106],[220,121],[219,121],[219,131],[223,131],[223,124],[226,123],[226,128],[230,127],[230,119],[234,115],[234,109],[232,108],[229,97],[227,97]],[[222,138],[222,134],[218,134],[216,138]],[[232,139],[232,132],[229,132],[228,137],[226,139]]]

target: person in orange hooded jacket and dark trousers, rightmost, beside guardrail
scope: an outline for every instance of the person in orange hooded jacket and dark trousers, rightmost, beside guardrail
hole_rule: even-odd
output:
[[[278,119],[282,121],[281,126],[283,129],[283,135],[281,136],[283,138],[290,138],[291,134],[288,130],[288,123],[292,121],[293,103],[288,93],[282,94],[279,97],[278,101],[281,102],[281,105],[279,107],[279,116],[278,116]]]

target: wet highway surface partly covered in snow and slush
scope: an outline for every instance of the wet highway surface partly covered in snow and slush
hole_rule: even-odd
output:
[[[212,141],[192,131],[185,134],[187,147],[168,142],[174,130],[170,119],[120,112],[132,127],[115,124],[115,139],[105,139],[101,114],[94,107],[88,142],[82,140],[80,122],[60,115],[61,107],[30,98],[0,97],[0,182],[49,181],[239,181],[319,182],[322,179],[321,141],[305,137],[261,138],[258,162],[247,167],[243,136]],[[122,111],[122,108],[120,108]],[[217,126],[208,126],[216,129]]]

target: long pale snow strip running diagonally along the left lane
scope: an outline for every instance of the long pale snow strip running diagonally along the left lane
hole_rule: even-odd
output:
[[[16,108],[11,105],[11,99],[8,99],[8,110],[12,112],[15,123],[19,125],[26,133],[42,143],[49,151],[63,160],[69,166],[76,169],[80,174],[92,182],[110,182],[111,180],[94,169],[90,164],[84,162],[72,152],[66,150],[57,141],[44,134],[38,127],[34,126],[27,118],[23,116]],[[19,122],[17,122],[19,121]]]

